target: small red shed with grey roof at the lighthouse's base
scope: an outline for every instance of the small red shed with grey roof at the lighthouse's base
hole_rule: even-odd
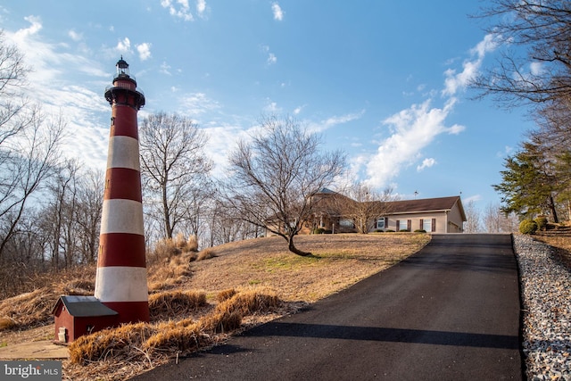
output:
[[[62,343],[71,343],[81,335],[119,325],[119,313],[95,296],[60,296],[52,313],[55,316],[55,340]]]

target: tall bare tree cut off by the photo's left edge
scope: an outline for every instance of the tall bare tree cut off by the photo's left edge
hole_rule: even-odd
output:
[[[29,67],[0,31],[0,292],[14,294],[44,269],[46,235],[32,200],[59,162],[65,123],[49,119],[23,95]],[[18,286],[20,285],[20,286]]]

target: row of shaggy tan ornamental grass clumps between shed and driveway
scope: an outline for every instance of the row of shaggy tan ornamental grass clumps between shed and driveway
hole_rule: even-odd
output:
[[[219,334],[226,335],[239,329],[244,316],[271,311],[281,305],[275,294],[236,290],[226,290],[224,294],[228,299],[219,302],[200,319],[186,317],[154,324],[125,324],[80,336],[70,344],[70,361],[81,365],[101,360],[148,361],[152,364],[160,357],[186,354],[216,344]],[[207,306],[205,294],[192,291],[155,294],[149,304],[153,313],[177,311],[178,314]]]

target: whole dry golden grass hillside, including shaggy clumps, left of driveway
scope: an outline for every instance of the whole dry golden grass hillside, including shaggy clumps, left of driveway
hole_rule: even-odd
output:
[[[429,240],[413,233],[296,237],[300,249],[313,253],[310,257],[289,253],[281,237],[200,253],[181,239],[163,243],[148,254],[152,321],[79,338],[63,362],[64,379],[124,379],[219,344],[244,327],[352,286]],[[57,297],[93,294],[94,278],[95,269],[77,269],[0,301],[0,346],[53,338],[51,309]]]

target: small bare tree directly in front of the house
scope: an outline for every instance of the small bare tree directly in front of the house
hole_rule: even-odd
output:
[[[397,199],[392,188],[377,192],[363,182],[355,182],[340,193],[345,197],[330,197],[329,203],[335,205],[340,218],[351,219],[360,234],[367,234],[375,227],[377,219],[390,213],[391,202]],[[323,202],[327,203],[327,199]]]

